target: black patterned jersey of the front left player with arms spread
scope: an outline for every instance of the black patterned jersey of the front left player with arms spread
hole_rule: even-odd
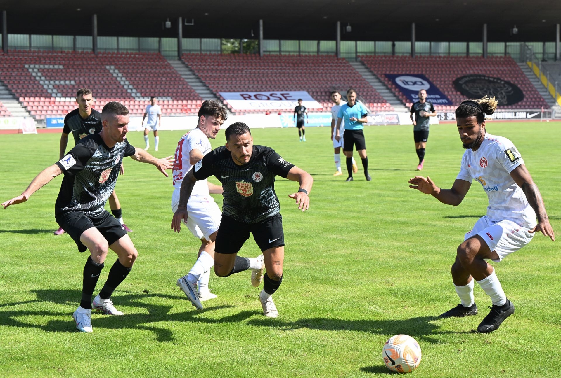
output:
[[[55,215],[73,211],[88,215],[102,212],[117,183],[123,157],[135,152],[127,139],[113,148],[107,147],[98,133],[81,139],[56,162],[65,176],[54,205]]]

